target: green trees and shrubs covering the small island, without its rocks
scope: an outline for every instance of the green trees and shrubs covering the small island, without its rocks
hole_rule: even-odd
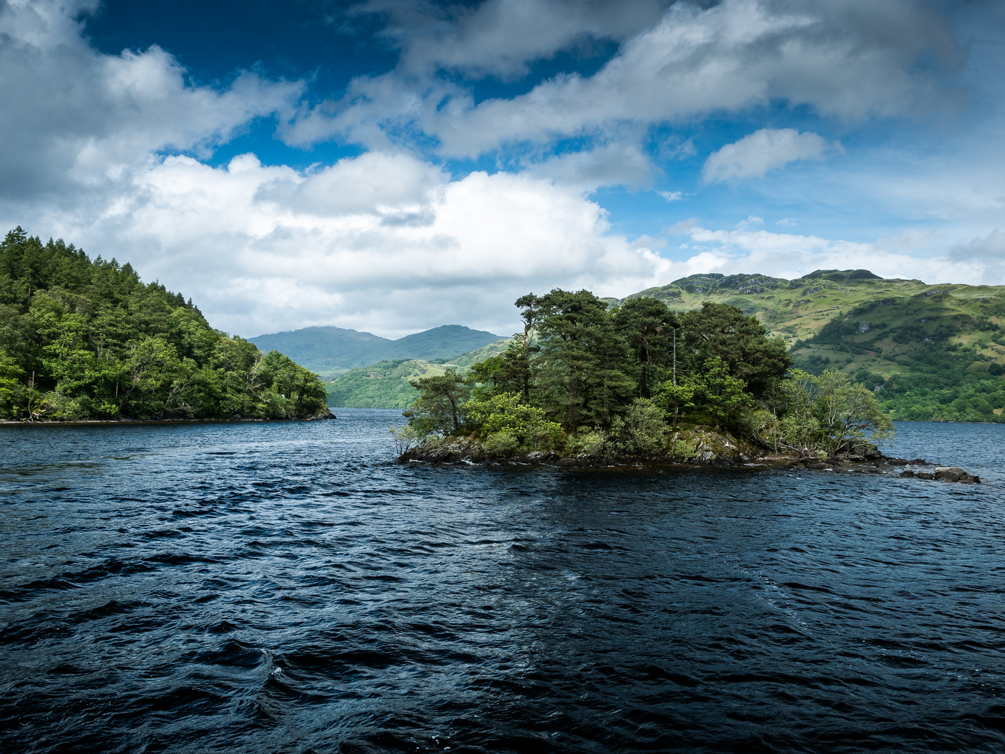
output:
[[[524,332],[505,353],[463,378],[412,383],[420,396],[405,416],[415,437],[474,433],[497,452],[564,444],[592,453],[610,441],[645,453],[664,442],[672,421],[810,453],[847,450],[888,431],[861,386],[829,375],[804,389],[802,372],[787,373],[784,344],[735,306],[706,303],[678,315],[642,297],[609,310],[590,291],[559,288],[529,293],[517,306]]]

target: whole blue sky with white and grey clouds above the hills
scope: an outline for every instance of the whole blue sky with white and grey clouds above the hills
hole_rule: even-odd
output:
[[[1000,0],[0,0],[0,225],[253,336],[1005,284]]]

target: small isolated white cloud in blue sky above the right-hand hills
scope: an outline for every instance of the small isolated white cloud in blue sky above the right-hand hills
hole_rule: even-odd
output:
[[[843,152],[843,149],[838,142],[829,144],[811,132],[761,129],[714,152],[705,163],[701,180],[733,183],[760,178],[796,160],[821,160],[827,152]]]

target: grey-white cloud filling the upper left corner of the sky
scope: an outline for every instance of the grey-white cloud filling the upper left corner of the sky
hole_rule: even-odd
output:
[[[94,188],[161,150],[205,153],[303,88],[247,72],[220,89],[193,85],[156,45],[102,54],[77,20],[96,5],[0,4],[0,197]]]

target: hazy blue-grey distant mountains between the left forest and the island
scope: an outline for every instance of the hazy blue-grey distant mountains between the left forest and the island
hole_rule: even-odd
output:
[[[305,327],[248,338],[263,350],[277,350],[327,378],[384,360],[449,358],[499,339],[485,330],[445,324],[390,340],[342,327]]]

